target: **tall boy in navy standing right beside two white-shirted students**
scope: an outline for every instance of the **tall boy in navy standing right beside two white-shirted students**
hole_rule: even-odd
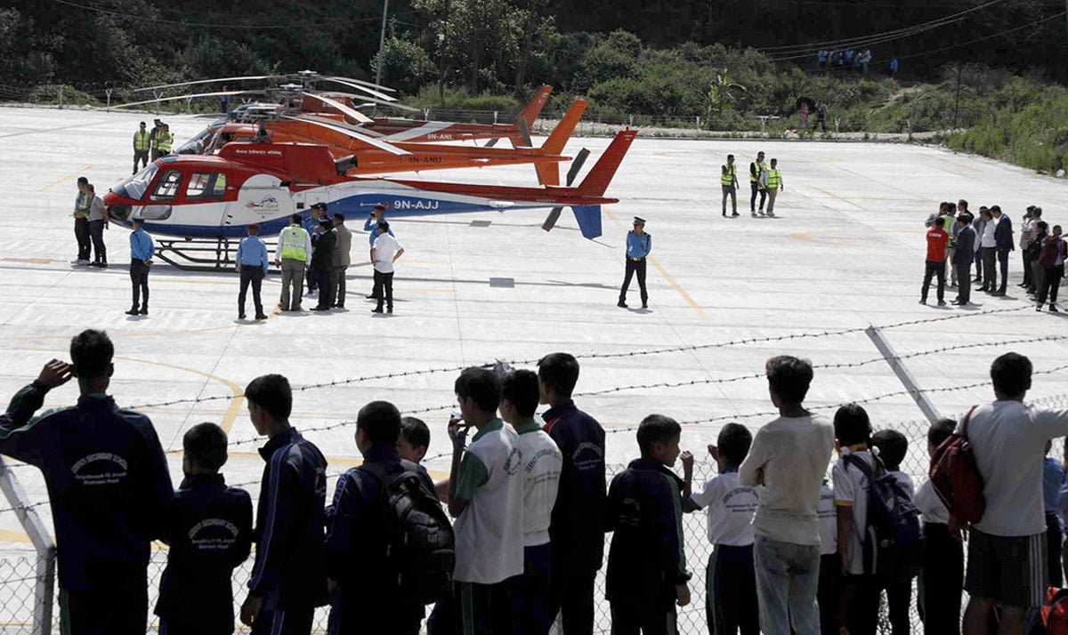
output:
[[[552,508],[550,610],[562,614],[564,635],[594,630],[594,578],[604,559],[603,518],[607,501],[604,429],[571,400],[579,363],[567,353],[551,353],[537,363],[545,431],[564,456],[560,490]]]

